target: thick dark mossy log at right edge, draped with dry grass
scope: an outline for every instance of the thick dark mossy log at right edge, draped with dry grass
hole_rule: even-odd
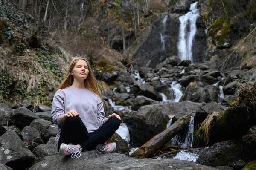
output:
[[[195,133],[193,146],[206,147],[239,139],[256,124],[256,81],[252,86],[247,85],[244,82],[238,85],[239,97],[226,110],[214,116],[208,115],[208,120]]]

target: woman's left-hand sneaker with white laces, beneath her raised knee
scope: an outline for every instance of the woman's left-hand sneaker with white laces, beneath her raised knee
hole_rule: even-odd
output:
[[[80,145],[70,145],[62,143],[60,146],[60,155],[71,155],[72,158],[80,158],[81,149],[79,150]]]

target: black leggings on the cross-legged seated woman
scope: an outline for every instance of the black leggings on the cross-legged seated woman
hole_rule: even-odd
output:
[[[87,128],[79,116],[67,117],[61,128],[58,142],[58,151],[62,143],[80,144],[85,150],[93,150],[97,145],[104,144],[119,128],[121,121],[116,117],[109,118],[101,127],[92,133],[88,133]]]

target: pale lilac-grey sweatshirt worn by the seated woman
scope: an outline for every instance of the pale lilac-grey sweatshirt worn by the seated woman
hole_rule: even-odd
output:
[[[52,121],[58,125],[57,147],[63,124],[60,117],[70,110],[80,113],[80,118],[89,133],[106,121],[101,99],[90,90],[67,87],[56,92],[52,101]]]

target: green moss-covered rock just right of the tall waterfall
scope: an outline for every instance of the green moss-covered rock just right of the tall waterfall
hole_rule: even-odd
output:
[[[224,17],[219,17],[210,26],[209,35],[218,47],[229,47],[230,23]]]

